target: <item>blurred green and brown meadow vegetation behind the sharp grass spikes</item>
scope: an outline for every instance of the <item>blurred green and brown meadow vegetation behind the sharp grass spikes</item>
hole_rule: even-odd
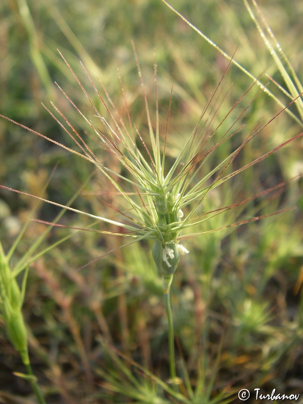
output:
[[[259,76],[267,69],[268,75],[284,85],[242,1],[171,0],[171,4],[228,54],[237,49],[235,59],[252,74]],[[259,5],[294,70],[301,75],[302,2],[267,0]],[[71,147],[72,141],[41,106],[42,102],[48,107],[48,100],[53,100],[85,133],[83,122],[54,83],[64,88],[81,111],[89,110],[57,49],[87,83],[81,60],[127,119],[119,68],[132,119],[142,131],[146,126],[145,112],[131,40],[136,46],[151,111],[155,105],[156,54],[162,132],[173,85],[168,145],[172,158],[193,130],[227,67],[227,61],[160,0],[6,0],[0,4],[0,18],[0,113]],[[302,75],[299,78],[303,80]],[[265,78],[265,83],[268,81]],[[249,78],[236,67],[229,69],[224,90],[231,89],[220,106],[218,122],[250,85]],[[269,87],[283,98],[273,83]],[[99,88],[102,90],[101,85]],[[232,110],[222,125],[222,133],[258,91],[252,88],[243,103]],[[91,96],[98,103],[93,91]],[[100,103],[99,107],[101,110]],[[261,93],[239,121],[239,133],[212,158],[224,159],[254,127],[279,110],[274,100]],[[298,122],[282,114],[245,146],[233,168],[300,131]],[[0,183],[11,188],[41,196],[41,189],[49,181],[44,197],[67,204],[92,172],[90,165],[67,151],[5,120],[0,121],[0,142]],[[90,145],[102,155],[93,139]],[[301,145],[299,141],[290,144],[217,188],[205,201],[203,211],[236,203],[302,173]],[[105,154],[103,159],[115,168],[109,156]],[[208,164],[212,167],[212,161]],[[100,195],[103,181],[94,175],[73,207],[114,217],[99,198],[115,203],[116,196],[110,188],[106,196]],[[251,390],[262,387],[264,391],[278,388],[285,394],[301,392],[300,186],[300,181],[292,181],[283,192],[251,201],[197,231],[224,227],[285,207],[295,210],[186,241],[191,254],[179,265],[172,300],[178,373],[188,374],[189,385],[198,386],[201,397],[205,397],[205,401],[195,401],[185,383],[181,391],[188,402],[208,403],[218,394],[220,399],[229,395],[233,399],[233,394],[245,386]],[[0,190],[0,236],[7,249],[34,205],[33,198]],[[44,204],[35,211],[35,217],[52,222],[58,212],[56,207]],[[85,227],[89,222],[69,212],[60,223]],[[99,228],[113,230],[107,225]],[[41,223],[29,225],[18,244],[16,259],[43,231],[45,225]],[[53,229],[43,241],[44,247],[70,232],[68,228]],[[150,245],[118,249],[78,270],[120,244],[115,236],[78,232],[31,264],[24,316],[32,331],[34,372],[49,403],[179,402],[158,380],[168,378],[167,330],[161,281],[151,262]],[[35,402],[27,382],[13,375],[24,369],[4,329],[0,335],[1,399],[5,403]],[[18,397],[26,401],[18,401]]]

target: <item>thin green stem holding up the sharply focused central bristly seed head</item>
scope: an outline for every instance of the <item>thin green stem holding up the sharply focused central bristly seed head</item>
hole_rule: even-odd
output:
[[[165,311],[168,322],[168,349],[169,349],[169,369],[170,377],[173,384],[177,380],[176,364],[175,364],[175,346],[174,346],[174,323],[170,304],[170,286],[173,280],[173,274],[163,278],[163,293],[165,301]]]

